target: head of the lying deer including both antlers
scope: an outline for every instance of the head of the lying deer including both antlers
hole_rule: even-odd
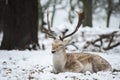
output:
[[[75,34],[75,32],[78,31],[79,27],[82,24],[83,19],[85,18],[84,12],[77,12],[78,14],[78,23],[75,28],[75,30],[68,34],[68,35],[62,35],[57,38],[54,34],[52,34],[52,31],[50,29],[50,22],[49,22],[49,11],[47,11],[47,23],[48,23],[48,30],[45,30],[45,33],[47,33],[51,38],[54,39],[54,42],[52,43],[52,53],[56,52],[62,52],[65,51],[65,46],[67,45],[67,41],[64,41],[65,38],[70,37],[71,35]]]

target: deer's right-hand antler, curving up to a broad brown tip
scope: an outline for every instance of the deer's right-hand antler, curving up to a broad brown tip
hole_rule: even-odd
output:
[[[65,38],[73,35],[75,32],[78,31],[78,29],[79,29],[80,25],[82,24],[82,21],[85,18],[85,16],[84,16],[84,12],[77,12],[77,14],[78,14],[79,18],[78,18],[78,24],[77,24],[75,30],[72,33],[70,33],[70,34],[68,34],[66,36],[62,36],[62,37],[60,36],[60,40],[64,40]]]

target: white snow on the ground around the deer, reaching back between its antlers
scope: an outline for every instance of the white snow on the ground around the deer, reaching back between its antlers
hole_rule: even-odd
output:
[[[77,24],[77,15],[74,24],[70,24],[67,20],[67,13],[65,10],[57,12],[54,27],[52,28],[58,35],[65,28],[69,29],[70,33],[74,30]],[[72,36],[73,41],[77,40],[76,44],[79,49],[74,46],[67,46],[68,52],[88,52],[91,54],[98,54],[105,58],[112,66],[113,69],[120,70],[120,46],[115,47],[109,51],[91,51],[82,50],[85,41],[93,40],[99,34],[106,34],[113,31],[119,31],[120,16],[112,16],[110,21],[110,28],[105,27],[105,20],[94,17],[93,27],[82,26],[76,34]],[[58,19],[59,18],[59,19]],[[81,32],[85,33],[85,39],[82,39]],[[3,34],[0,34],[0,42],[2,41]],[[74,37],[74,38],[73,38]],[[58,74],[51,73],[53,68],[51,44],[54,41],[51,38],[45,38],[43,33],[38,33],[39,44],[45,45],[45,50],[0,50],[0,80],[120,80],[120,72],[97,72],[90,73],[72,73],[62,72]],[[120,38],[118,38],[120,41]]]

